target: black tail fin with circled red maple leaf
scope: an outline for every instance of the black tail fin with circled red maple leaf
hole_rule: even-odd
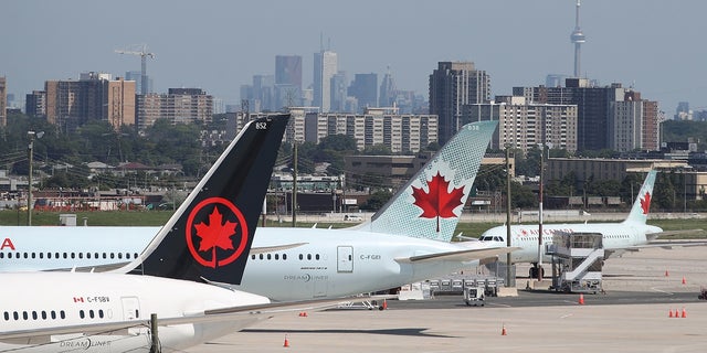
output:
[[[143,274],[241,282],[288,119],[245,125],[143,252]]]

